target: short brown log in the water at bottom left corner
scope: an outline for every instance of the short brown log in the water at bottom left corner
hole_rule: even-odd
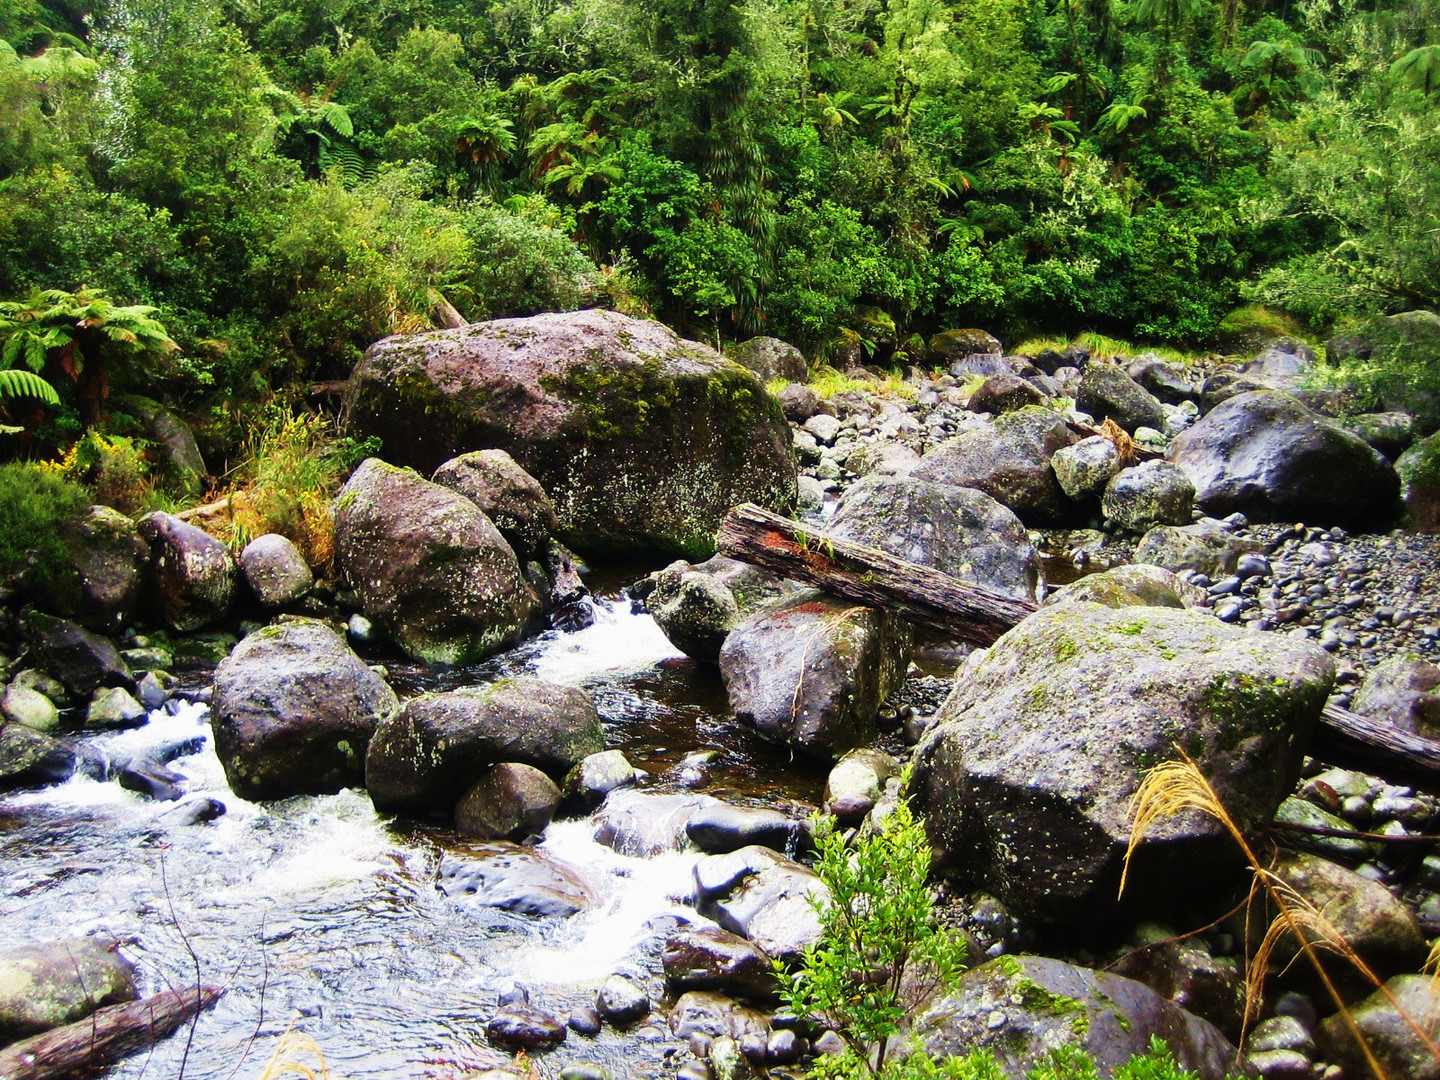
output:
[[[189,986],[95,1009],[75,1024],[43,1031],[0,1050],[0,1080],[88,1076],[174,1034],[187,1020],[210,1008],[223,992],[219,986]]]

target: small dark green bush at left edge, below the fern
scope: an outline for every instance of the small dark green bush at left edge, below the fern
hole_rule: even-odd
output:
[[[85,488],[52,471],[0,465],[0,577],[62,575],[69,566],[62,531],[89,505]]]

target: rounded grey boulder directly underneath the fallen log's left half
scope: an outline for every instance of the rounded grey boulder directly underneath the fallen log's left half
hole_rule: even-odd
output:
[[[819,592],[762,608],[720,649],[737,716],[765,739],[832,757],[874,740],[909,664],[907,624]]]

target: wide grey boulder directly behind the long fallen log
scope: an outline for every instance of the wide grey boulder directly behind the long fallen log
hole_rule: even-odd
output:
[[[1014,513],[975,488],[865,477],[845,491],[825,531],[1007,596],[1035,598],[1040,557],[1030,534]]]

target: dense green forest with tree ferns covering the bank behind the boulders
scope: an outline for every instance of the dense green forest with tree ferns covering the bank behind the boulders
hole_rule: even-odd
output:
[[[1437,0],[0,0],[0,39],[3,317],[220,412],[448,307],[824,359],[1440,304]]]

